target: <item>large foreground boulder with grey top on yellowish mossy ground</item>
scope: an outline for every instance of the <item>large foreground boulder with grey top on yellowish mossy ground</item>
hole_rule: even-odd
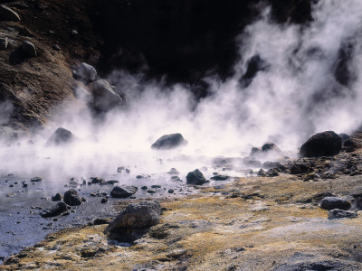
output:
[[[161,205],[157,201],[131,203],[126,210],[110,222],[105,229],[110,238],[133,241],[144,234],[150,227],[159,223]]]

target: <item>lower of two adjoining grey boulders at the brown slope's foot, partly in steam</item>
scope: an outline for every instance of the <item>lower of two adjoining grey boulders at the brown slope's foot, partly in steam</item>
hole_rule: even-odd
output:
[[[110,87],[105,79],[99,79],[93,83],[93,106],[100,111],[107,112],[122,104],[122,98]]]

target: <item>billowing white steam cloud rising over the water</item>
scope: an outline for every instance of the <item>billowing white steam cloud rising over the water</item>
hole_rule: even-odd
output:
[[[53,179],[60,173],[117,179],[118,166],[130,168],[129,180],[171,167],[185,176],[196,167],[209,167],[216,156],[247,156],[252,146],[268,141],[296,155],[313,133],[352,132],[361,125],[362,114],[362,2],[320,0],[313,5],[313,21],[303,26],[272,23],[270,12],[266,7],[236,39],[241,61],[233,78],[205,78],[210,97],[196,101],[183,85],[145,83],[141,75],[114,70],[109,79],[129,97],[128,107],[97,121],[85,106],[88,94],[80,88],[81,98],[70,105],[70,113],[55,118],[34,137],[34,145],[13,147],[14,158],[5,160],[2,168],[43,171]],[[245,83],[255,56],[262,68]],[[82,140],[69,147],[44,148],[59,126]],[[184,135],[188,145],[167,152],[150,150],[158,137],[172,133]]]

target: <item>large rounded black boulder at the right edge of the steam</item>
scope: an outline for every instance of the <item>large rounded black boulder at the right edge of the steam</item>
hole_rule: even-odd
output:
[[[300,147],[302,157],[333,156],[340,153],[342,138],[333,131],[312,135]]]

